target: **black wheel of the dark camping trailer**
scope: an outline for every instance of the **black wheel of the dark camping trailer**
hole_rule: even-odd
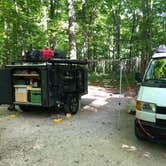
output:
[[[66,99],[66,103],[64,105],[64,112],[76,114],[80,109],[80,99],[77,96],[69,95]]]

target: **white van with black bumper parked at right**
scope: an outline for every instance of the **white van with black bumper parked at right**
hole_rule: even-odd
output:
[[[166,142],[166,52],[153,55],[143,77],[136,100],[135,135]]]

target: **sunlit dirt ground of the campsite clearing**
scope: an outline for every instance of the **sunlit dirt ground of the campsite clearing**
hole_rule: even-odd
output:
[[[0,107],[0,166],[165,166],[165,145],[137,140],[133,99],[89,87],[75,116]],[[60,116],[61,122],[54,119]]]

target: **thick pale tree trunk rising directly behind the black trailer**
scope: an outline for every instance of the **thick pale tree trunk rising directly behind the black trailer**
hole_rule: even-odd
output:
[[[75,42],[75,26],[74,26],[74,1],[68,0],[68,17],[69,17],[69,46],[70,59],[76,59],[76,42]]]

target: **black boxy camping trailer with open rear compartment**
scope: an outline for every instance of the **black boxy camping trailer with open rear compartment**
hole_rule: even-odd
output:
[[[0,104],[21,110],[64,108],[75,114],[87,93],[86,60],[23,62],[0,69]]]

